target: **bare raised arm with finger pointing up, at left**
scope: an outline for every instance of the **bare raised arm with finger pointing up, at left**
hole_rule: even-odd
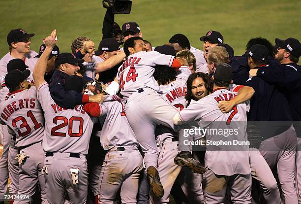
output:
[[[44,75],[46,73],[48,58],[52,52],[53,47],[56,45],[57,42],[56,35],[57,30],[53,30],[50,36],[45,38],[44,43],[46,45],[46,48],[33,69],[32,76],[34,79],[36,89],[38,89],[38,87],[42,83],[46,82],[44,79]]]

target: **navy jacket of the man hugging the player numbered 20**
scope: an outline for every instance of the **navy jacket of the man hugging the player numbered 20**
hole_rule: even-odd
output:
[[[49,81],[49,91],[52,99],[58,105],[64,108],[74,108],[76,105],[83,103],[83,95],[75,91],[65,90],[64,84],[68,77],[68,74],[60,70],[55,70]]]

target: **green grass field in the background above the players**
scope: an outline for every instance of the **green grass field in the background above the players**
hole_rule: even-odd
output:
[[[153,44],[168,42],[176,33],[185,34],[191,45],[202,47],[200,36],[209,30],[223,34],[235,54],[244,51],[251,37],[301,40],[300,0],[133,0],[131,14],[116,15],[120,26],[136,21],[143,37]],[[38,51],[52,29],[58,31],[58,46],[69,52],[78,36],[89,36],[96,48],[101,39],[105,9],[101,0],[0,0],[0,56],[8,52],[6,36],[11,29],[35,33],[31,49]]]

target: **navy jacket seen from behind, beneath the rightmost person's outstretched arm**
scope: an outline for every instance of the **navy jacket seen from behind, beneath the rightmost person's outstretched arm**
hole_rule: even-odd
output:
[[[267,70],[270,65],[262,67]],[[279,135],[292,125],[291,110],[285,96],[285,90],[272,85],[260,77],[251,77],[246,83],[255,90],[251,98],[248,121],[255,124],[263,133],[263,139]]]

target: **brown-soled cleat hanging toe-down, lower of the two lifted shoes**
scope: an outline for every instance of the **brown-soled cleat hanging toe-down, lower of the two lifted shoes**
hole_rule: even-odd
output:
[[[147,170],[147,175],[151,185],[152,193],[156,197],[162,198],[164,195],[164,190],[160,181],[159,172],[153,166],[150,166]]]

